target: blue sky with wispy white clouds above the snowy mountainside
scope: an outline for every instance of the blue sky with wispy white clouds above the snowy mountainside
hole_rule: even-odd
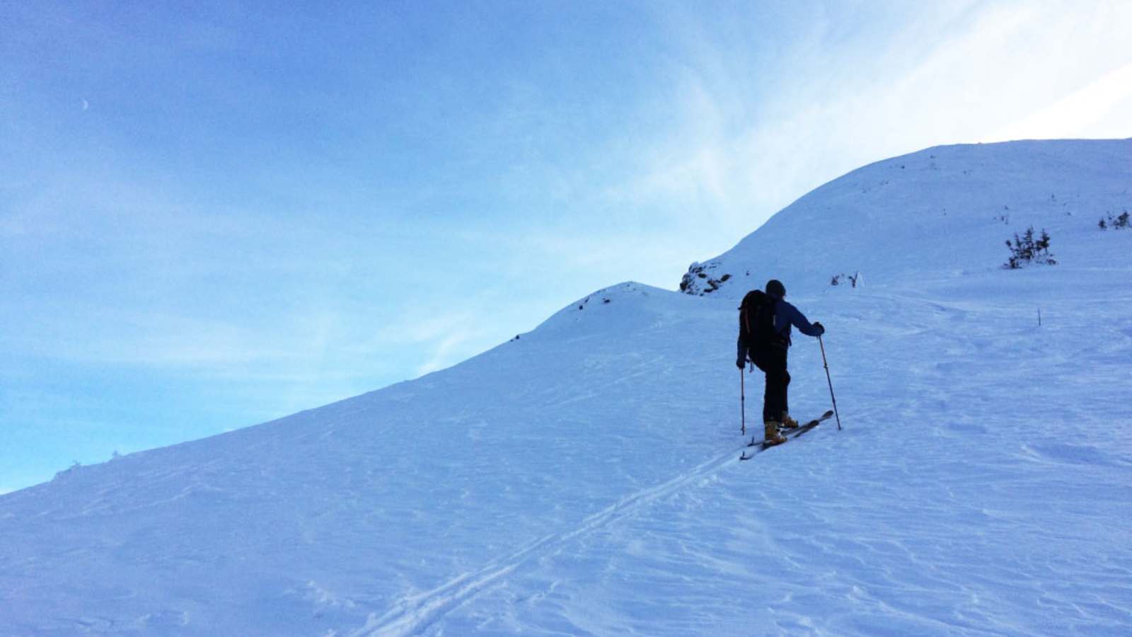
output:
[[[278,7],[0,6],[0,492],[674,289],[885,156],[1132,135],[1123,1]]]

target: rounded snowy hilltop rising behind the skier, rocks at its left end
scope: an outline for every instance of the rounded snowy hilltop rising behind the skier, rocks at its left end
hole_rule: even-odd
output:
[[[739,298],[774,275],[807,289],[857,272],[885,286],[963,275],[1002,264],[1003,241],[1029,226],[1049,230],[1055,253],[1074,250],[1086,246],[1066,239],[1094,239],[1098,220],[1125,210],[1132,139],[936,146],[808,193],[732,249],[694,263],[681,288]]]

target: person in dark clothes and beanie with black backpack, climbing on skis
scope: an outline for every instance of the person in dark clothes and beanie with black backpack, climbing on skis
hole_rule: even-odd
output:
[[[763,424],[767,447],[786,442],[779,433],[781,427],[794,428],[798,422],[790,417],[787,388],[790,373],[787,372],[787,349],[790,347],[790,325],[807,337],[825,333],[821,323],[813,323],[797,307],[786,300],[786,287],[778,279],[766,282],[766,292],[752,290],[739,306],[738,358],[735,364],[741,370],[747,358],[766,374],[766,390],[763,393]]]

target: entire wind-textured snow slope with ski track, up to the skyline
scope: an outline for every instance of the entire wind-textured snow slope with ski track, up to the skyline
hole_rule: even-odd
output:
[[[1132,229],[1097,221],[1130,187],[1132,141],[880,162],[709,262],[710,295],[623,283],[421,380],[0,496],[0,634],[1126,635]],[[998,269],[1030,223],[1061,264]],[[829,329],[844,430],[739,462],[736,298],[772,274]],[[826,409],[815,340],[790,367],[795,415]]]

